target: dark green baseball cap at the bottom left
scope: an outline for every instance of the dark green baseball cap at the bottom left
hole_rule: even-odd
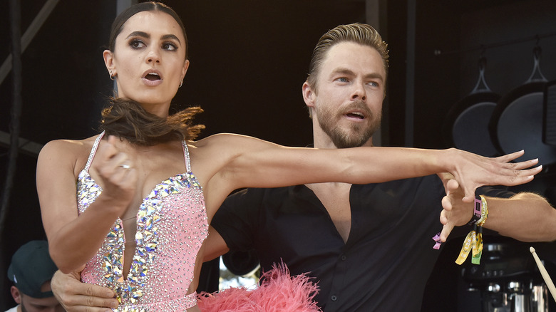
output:
[[[50,281],[58,268],[48,254],[48,242],[29,241],[17,249],[11,257],[8,279],[27,296],[33,298],[52,297],[52,291],[41,291],[41,286]]]

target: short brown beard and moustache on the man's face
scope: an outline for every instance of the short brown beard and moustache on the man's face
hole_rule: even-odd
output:
[[[360,110],[369,119],[369,123],[362,125],[351,123],[347,128],[338,125],[338,120],[351,110]],[[347,105],[339,113],[334,113],[329,105],[316,106],[316,119],[321,129],[330,137],[337,148],[359,147],[364,145],[381,125],[381,115],[371,112],[362,101],[355,101]]]

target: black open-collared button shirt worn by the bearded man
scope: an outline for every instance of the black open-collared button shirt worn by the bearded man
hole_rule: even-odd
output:
[[[263,271],[284,261],[292,274],[318,276],[324,311],[419,311],[443,195],[436,175],[352,185],[346,244],[304,185],[234,194],[212,226],[231,250],[255,249]]]

